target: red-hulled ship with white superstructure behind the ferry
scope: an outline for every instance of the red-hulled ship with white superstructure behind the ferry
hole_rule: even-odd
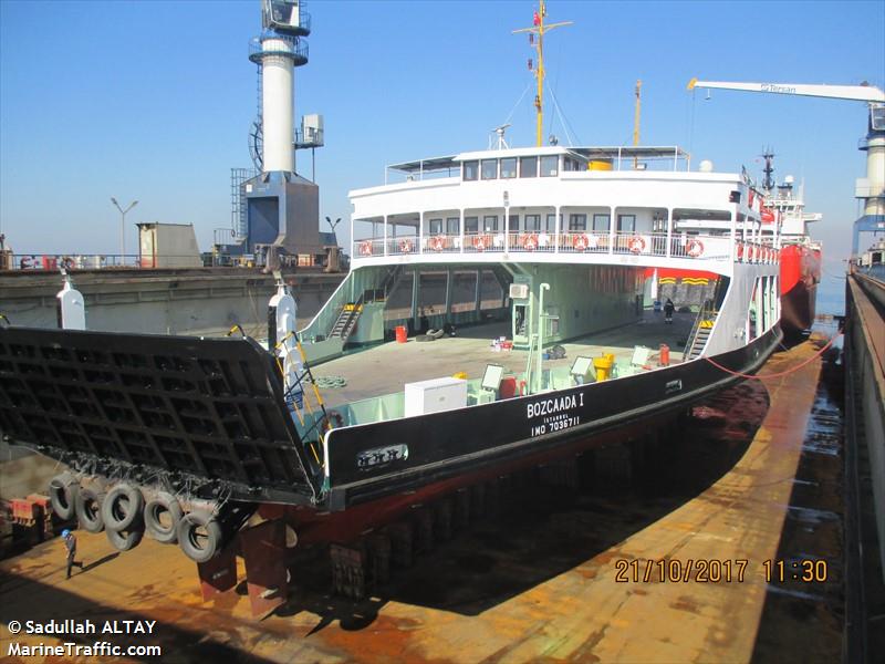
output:
[[[788,175],[780,185],[774,184],[774,155],[767,151],[763,168],[766,191],[762,221],[781,218],[781,329],[784,334],[796,335],[814,323],[818,284],[821,281],[821,243],[809,235],[808,225],[820,221],[821,214],[806,214],[803,187],[796,193],[793,176]]]

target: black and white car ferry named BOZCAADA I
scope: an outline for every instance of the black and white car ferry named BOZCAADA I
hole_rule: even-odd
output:
[[[71,468],[63,518],[210,564],[256,513],[353,541],[759,370],[781,238],[743,176],[676,146],[538,143],[502,128],[353,190],[348,276],[299,332],[281,282],[263,344],[0,326],[0,429]],[[669,323],[649,269],[702,273],[708,297]]]

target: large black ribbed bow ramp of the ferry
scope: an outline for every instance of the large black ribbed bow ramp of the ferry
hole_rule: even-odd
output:
[[[323,473],[251,339],[0,329],[0,433],[75,468],[314,504]]]

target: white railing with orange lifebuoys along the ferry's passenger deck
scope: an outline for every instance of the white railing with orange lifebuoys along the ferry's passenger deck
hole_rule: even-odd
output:
[[[436,253],[605,253],[748,263],[778,262],[778,250],[762,241],[731,240],[728,234],[673,234],[648,231],[546,230],[485,231],[403,236],[356,240],[357,259],[378,256]]]

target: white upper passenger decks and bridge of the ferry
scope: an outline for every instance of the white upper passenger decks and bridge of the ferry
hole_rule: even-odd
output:
[[[350,194],[354,267],[702,260],[726,272],[777,258],[763,248],[777,225],[746,176],[690,170],[678,147],[471,152],[389,166],[385,179]]]

